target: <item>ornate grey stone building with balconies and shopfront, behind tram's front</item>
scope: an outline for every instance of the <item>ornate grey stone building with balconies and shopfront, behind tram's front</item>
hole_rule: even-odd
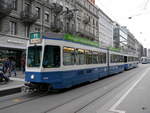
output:
[[[30,32],[69,33],[98,42],[98,8],[91,2],[0,0],[0,61],[14,57],[21,67]]]

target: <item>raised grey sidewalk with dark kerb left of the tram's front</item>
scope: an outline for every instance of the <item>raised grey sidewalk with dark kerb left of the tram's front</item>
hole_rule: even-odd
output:
[[[10,81],[6,84],[0,84],[0,97],[21,92],[24,86],[24,74],[17,71],[16,77],[10,77]]]

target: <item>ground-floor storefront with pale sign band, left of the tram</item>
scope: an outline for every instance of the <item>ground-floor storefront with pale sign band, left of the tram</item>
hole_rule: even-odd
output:
[[[17,70],[21,70],[21,60],[25,59],[27,39],[0,34],[0,63],[13,58]]]

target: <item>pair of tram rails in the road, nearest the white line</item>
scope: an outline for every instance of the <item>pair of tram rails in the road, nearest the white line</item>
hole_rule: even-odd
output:
[[[137,69],[136,69],[136,70],[137,70]],[[82,106],[80,109],[76,110],[74,113],[78,113],[79,111],[81,111],[82,109],[84,109],[85,107],[87,107],[88,105],[90,105],[91,103],[95,102],[97,99],[100,99],[100,98],[104,97],[106,94],[108,94],[108,93],[110,93],[111,91],[113,91],[114,89],[120,87],[121,84],[123,84],[123,83],[127,82],[129,79],[132,79],[133,77],[135,77],[135,76],[132,76],[132,77],[131,77],[131,75],[135,75],[136,73],[138,73],[138,72],[136,71],[136,72],[131,73],[130,75],[128,75],[128,77],[127,77],[125,80],[120,81],[120,82],[119,82],[118,84],[116,84],[113,88],[109,89],[108,91],[106,91],[106,92],[103,93],[102,95],[96,97],[95,99],[93,99],[92,101],[90,101],[89,103],[87,103],[86,105]],[[141,73],[142,73],[142,72],[141,72]],[[120,75],[120,76],[121,76],[121,75]],[[111,83],[110,83],[110,84],[111,84]],[[110,84],[107,84],[107,85],[110,85]],[[55,107],[53,107],[53,108],[50,108],[50,109],[48,109],[48,110],[45,110],[44,112],[41,112],[41,113],[50,113],[50,112],[53,112],[53,111],[56,110],[57,108],[62,107],[62,106],[65,105],[65,104],[71,103],[71,102],[73,102],[73,101],[76,100],[76,99],[79,99],[79,98],[82,98],[82,97],[84,97],[84,96],[86,96],[86,95],[89,95],[91,92],[94,92],[94,91],[96,91],[96,90],[98,90],[98,89],[100,89],[100,88],[102,88],[102,87],[98,87],[98,88],[94,89],[93,91],[89,91],[89,93],[80,95],[80,96],[78,96],[78,97],[76,97],[76,98],[73,98],[73,99],[71,99],[71,100],[68,100],[68,101],[66,101],[66,102],[64,102],[64,103],[62,103],[62,104],[59,104],[59,105],[57,105],[57,106],[55,106]]]

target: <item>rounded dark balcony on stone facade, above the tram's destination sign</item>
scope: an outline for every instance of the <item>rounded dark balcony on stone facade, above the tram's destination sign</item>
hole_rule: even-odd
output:
[[[32,13],[31,10],[24,10],[20,13],[21,20],[24,24],[33,24],[39,18],[36,13]]]

